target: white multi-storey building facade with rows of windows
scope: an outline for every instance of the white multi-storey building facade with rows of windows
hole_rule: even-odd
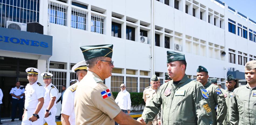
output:
[[[54,74],[52,83],[59,92],[76,78],[71,68],[84,60],[79,47],[86,45],[114,45],[115,68],[104,82],[116,92],[122,83],[129,92],[143,92],[153,74],[162,84],[166,51],[185,54],[189,78],[194,79],[202,65],[223,88],[228,72],[236,75],[238,86],[244,85],[244,65],[256,60],[256,22],[219,0],[0,0],[0,8],[1,27],[12,28],[9,21],[38,22],[43,34],[52,36],[49,56],[12,50],[13,42],[4,46],[7,49],[0,47],[3,65],[6,60],[29,59],[41,72]],[[26,77],[18,75],[25,72],[22,68],[12,69],[19,69],[13,76],[8,68],[0,68],[0,87],[26,83]],[[8,80],[10,76],[15,79]]]

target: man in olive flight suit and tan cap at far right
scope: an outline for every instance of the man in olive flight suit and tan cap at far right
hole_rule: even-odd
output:
[[[231,97],[232,125],[256,125],[256,60],[247,62],[244,69],[247,84],[235,88]]]

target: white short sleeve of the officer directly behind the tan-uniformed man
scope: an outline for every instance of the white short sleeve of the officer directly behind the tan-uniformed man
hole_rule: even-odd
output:
[[[71,116],[73,108],[74,108],[74,97],[72,97],[72,91],[67,90],[63,94],[63,100],[61,105],[61,109],[65,109],[65,110],[61,110],[61,113]]]

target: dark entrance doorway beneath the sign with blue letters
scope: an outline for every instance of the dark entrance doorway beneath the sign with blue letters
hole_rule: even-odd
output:
[[[11,100],[9,94],[16,82],[25,86],[28,83],[26,69],[29,67],[37,68],[37,60],[21,59],[0,56],[0,88],[3,91],[1,118],[11,117]],[[16,114],[18,116],[18,112]],[[17,117],[18,118],[18,117]]]

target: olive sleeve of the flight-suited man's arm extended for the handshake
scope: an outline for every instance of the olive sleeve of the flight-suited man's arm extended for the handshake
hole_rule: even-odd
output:
[[[144,97],[144,94],[143,94]],[[161,91],[158,89],[156,95],[152,99],[148,100],[142,113],[142,119],[146,122],[153,121],[159,110],[161,109],[162,98]]]

